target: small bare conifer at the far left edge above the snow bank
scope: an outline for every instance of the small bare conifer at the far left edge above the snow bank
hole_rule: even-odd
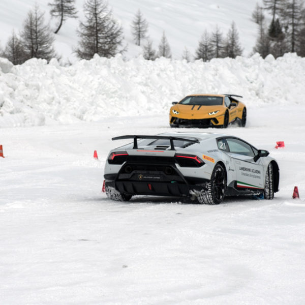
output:
[[[14,65],[21,65],[26,60],[24,47],[14,31],[7,42],[3,56],[9,59]]]

